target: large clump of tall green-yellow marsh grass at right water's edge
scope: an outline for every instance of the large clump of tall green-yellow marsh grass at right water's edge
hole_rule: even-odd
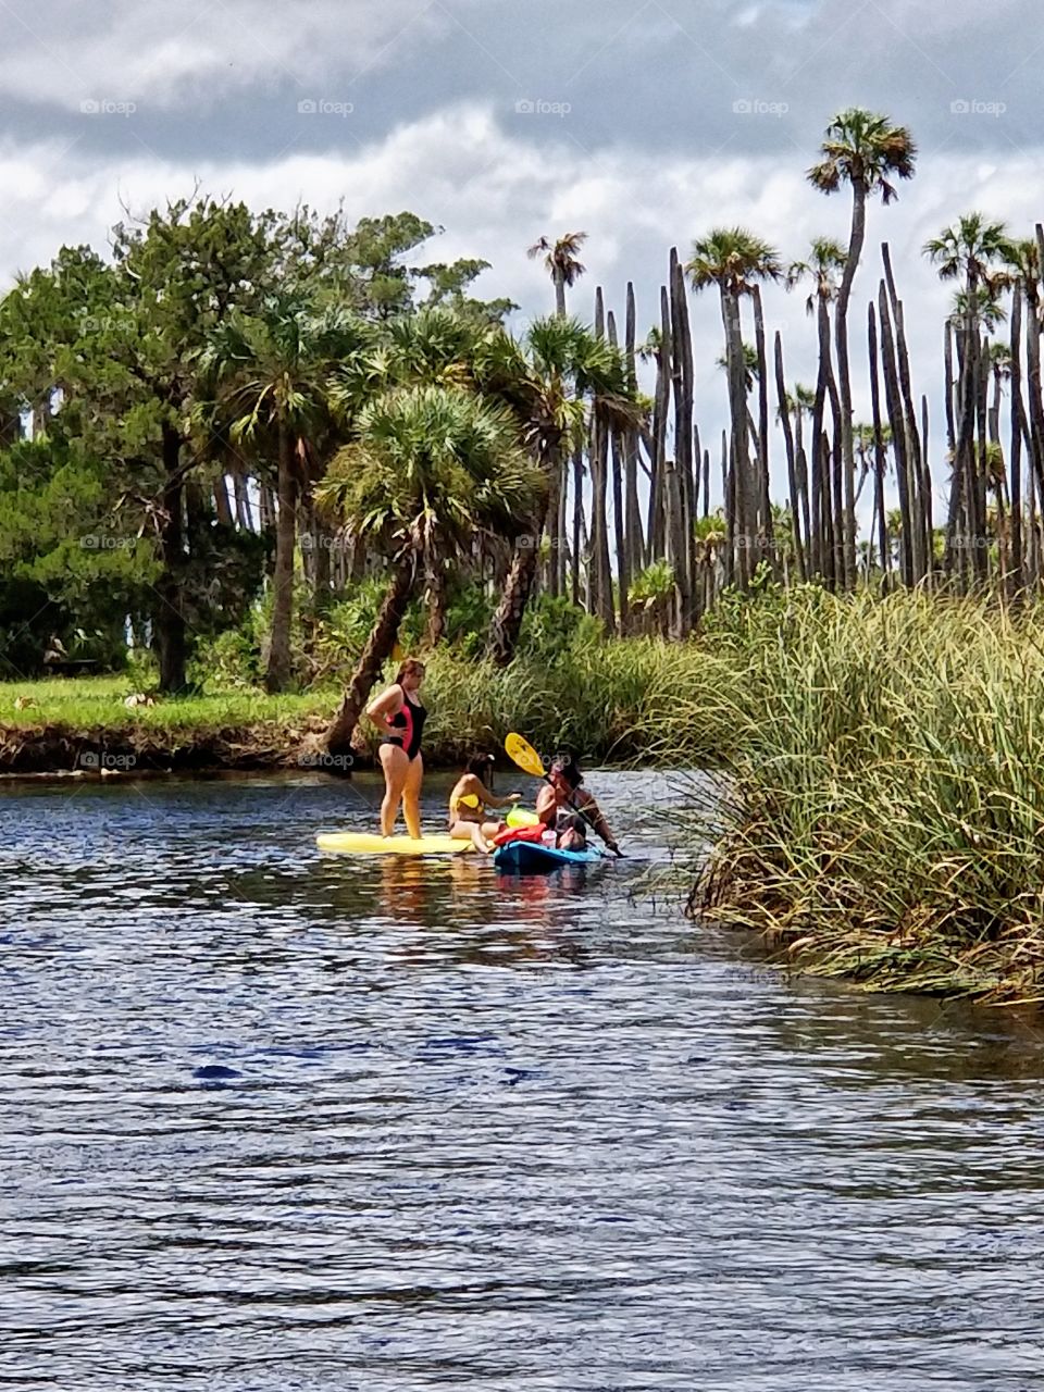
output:
[[[722,647],[693,915],[876,988],[1044,999],[1044,608],[795,593]]]

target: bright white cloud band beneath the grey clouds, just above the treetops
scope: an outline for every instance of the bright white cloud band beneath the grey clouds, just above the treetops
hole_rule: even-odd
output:
[[[526,120],[526,118],[519,118]],[[267,163],[161,160],[142,149],[132,160],[85,157],[77,146],[8,143],[0,148],[0,266],[28,269],[47,262],[61,242],[104,248],[121,200],[135,212],[191,193],[196,180],[214,193],[232,192],[253,207],[291,207],[299,199],[333,207],[341,196],[352,217],[411,209],[445,234],[429,252],[441,259],[482,256],[493,263],[480,291],[509,295],[523,316],[547,312],[551,288],[525,249],[540,234],[589,232],[583,260],[589,274],[572,292],[572,306],[590,315],[596,284],[622,317],[628,278],[638,294],[639,338],[658,319],[658,288],[668,251],[686,256],[692,239],[714,224],[739,223],[771,239],[782,256],[805,255],[813,235],[846,239],[848,200],[824,198],[803,178],[807,164],[792,159],[661,155],[638,149],[589,156],[560,121],[544,143],[522,138],[512,118],[498,121],[487,106],[464,104],[404,124],[352,153],[284,155]],[[880,277],[880,242],[889,239],[913,361],[913,386],[933,404],[934,458],[941,457],[942,317],[951,290],[920,255],[927,237],[970,207],[1006,219],[1030,232],[1040,216],[1038,159],[1013,152],[1006,160],[976,155],[926,157],[889,209],[870,209],[864,266],[851,313],[856,416],[869,415],[866,305]],[[425,255],[427,255],[426,252]],[[766,291],[770,331],[784,326],[791,381],[813,381],[814,326],[805,315],[805,291]],[[697,419],[704,443],[717,450],[725,418],[725,383],[715,366],[721,352],[717,296],[692,301],[696,331]],[[774,411],[773,411],[774,413]]]

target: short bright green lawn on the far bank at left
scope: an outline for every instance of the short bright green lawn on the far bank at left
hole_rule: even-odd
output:
[[[203,696],[157,699],[155,706],[124,706],[135,690],[131,677],[47,677],[35,682],[0,682],[0,728],[39,729],[220,729],[276,722],[294,725],[309,717],[330,718],[340,693],[269,696],[260,690],[217,690]],[[32,702],[15,709],[18,699]]]

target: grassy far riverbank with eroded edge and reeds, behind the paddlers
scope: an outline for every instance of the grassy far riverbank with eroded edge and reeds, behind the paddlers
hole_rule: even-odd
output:
[[[707,681],[693,644],[654,639],[585,644],[554,663],[511,668],[454,653],[427,658],[425,731],[432,768],[457,768],[476,749],[498,753],[526,734],[550,754],[571,749],[603,764],[677,766],[714,756],[720,742],[688,718]],[[0,685],[0,773],[104,775],[152,770],[317,767],[351,760],[323,750],[340,686],[299,696],[256,689],[205,692],[127,707],[129,677],[52,678]],[[376,732],[359,729],[355,766],[369,767]]]

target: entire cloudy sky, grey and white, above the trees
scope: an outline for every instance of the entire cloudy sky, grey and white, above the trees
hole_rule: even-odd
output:
[[[657,316],[671,245],[742,223],[785,259],[846,239],[848,202],[805,182],[849,104],[913,131],[917,175],[871,210],[852,319],[891,241],[915,388],[933,398],[948,291],[924,239],[980,207],[1044,217],[1040,0],[8,0],[0,3],[0,270],[104,248],[121,205],[192,191],[352,216],[411,209],[432,248],[491,262],[489,295],[543,312],[525,248],[589,234],[572,308],[635,281]],[[770,291],[788,373],[814,377],[803,295]],[[857,306],[857,309],[856,309]],[[717,305],[696,302],[699,415],[720,429]],[[862,366],[862,363],[860,363]],[[862,373],[856,374],[862,377]],[[856,411],[866,395],[856,381]],[[938,437],[938,429],[937,429]],[[938,440],[937,440],[938,443]],[[941,470],[940,470],[941,472]]]

